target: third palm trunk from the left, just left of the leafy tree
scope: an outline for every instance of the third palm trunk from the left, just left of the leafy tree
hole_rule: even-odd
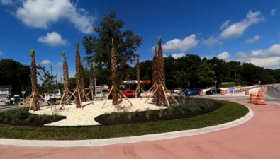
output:
[[[76,107],[81,108],[81,74],[82,74],[82,69],[81,69],[81,57],[79,55],[79,42],[76,43]]]

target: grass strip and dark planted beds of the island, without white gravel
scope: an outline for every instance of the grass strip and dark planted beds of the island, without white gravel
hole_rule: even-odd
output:
[[[164,110],[103,114],[96,117],[96,120],[105,125],[96,126],[32,126],[32,122],[30,122],[30,126],[27,126],[28,121],[26,120],[33,114],[22,118],[20,115],[20,118],[17,117],[16,120],[13,120],[12,118],[15,116],[11,114],[15,113],[5,112],[0,114],[0,138],[81,140],[139,136],[223,124],[239,119],[248,112],[247,107],[237,103],[202,98],[189,98],[183,106]],[[7,113],[10,113],[10,124]],[[35,118],[38,119],[36,121],[52,122],[52,119],[57,120],[64,117],[37,115]],[[21,122],[25,124],[20,124]]]

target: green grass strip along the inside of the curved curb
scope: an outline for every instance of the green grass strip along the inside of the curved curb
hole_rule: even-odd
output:
[[[42,140],[77,140],[104,139],[121,136],[138,136],[157,134],[169,131],[197,129],[230,122],[243,117],[249,110],[247,107],[220,100],[220,108],[207,114],[195,117],[145,122],[137,124],[118,124],[108,126],[16,126],[0,124],[0,138],[9,139],[42,139]]]

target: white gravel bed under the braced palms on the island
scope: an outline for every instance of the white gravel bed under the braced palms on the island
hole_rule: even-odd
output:
[[[89,125],[99,125],[98,122],[94,120],[95,117],[110,113],[110,112],[133,112],[135,110],[158,110],[158,109],[164,109],[167,107],[159,107],[156,106],[154,103],[151,102],[152,99],[148,100],[146,103],[144,103],[147,98],[143,98],[140,100],[140,98],[129,98],[130,102],[133,104],[133,106],[130,105],[130,103],[123,99],[123,102],[119,105],[119,107],[114,107],[112,105],[112,100],[107,100],[106,105],[103,106],[103,103],[105,100],[94,100],[94,105],[91,104],[91,102],[83,102],[82,105],[83,108],[76,108],[76,105],[65,105],[62,107],[62,110],[58,110],[59,106],[57,105],[57,110],[55,111],[55,114],[66,116],[66,119],[60,120],[58,122],[53,122],[50,124],[45,124],[45,126],[89,126]],[[53,110],[55,110],[53,108]],[[33,114],[52,114],[51,107],[50,106],[43,106],[40,107],[39,111],[31,111],[30,113]]]

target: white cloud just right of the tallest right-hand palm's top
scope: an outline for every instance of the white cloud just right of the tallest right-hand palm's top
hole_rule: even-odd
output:
[[[196,40],[196,35],[192,34],[189,37],[184,38],[184,40],[174,39],[168,41],[166,44],[162,45],[164,52],[170,52],[174,50],[186,51],[191,47],[195,47],[199,40]]]

